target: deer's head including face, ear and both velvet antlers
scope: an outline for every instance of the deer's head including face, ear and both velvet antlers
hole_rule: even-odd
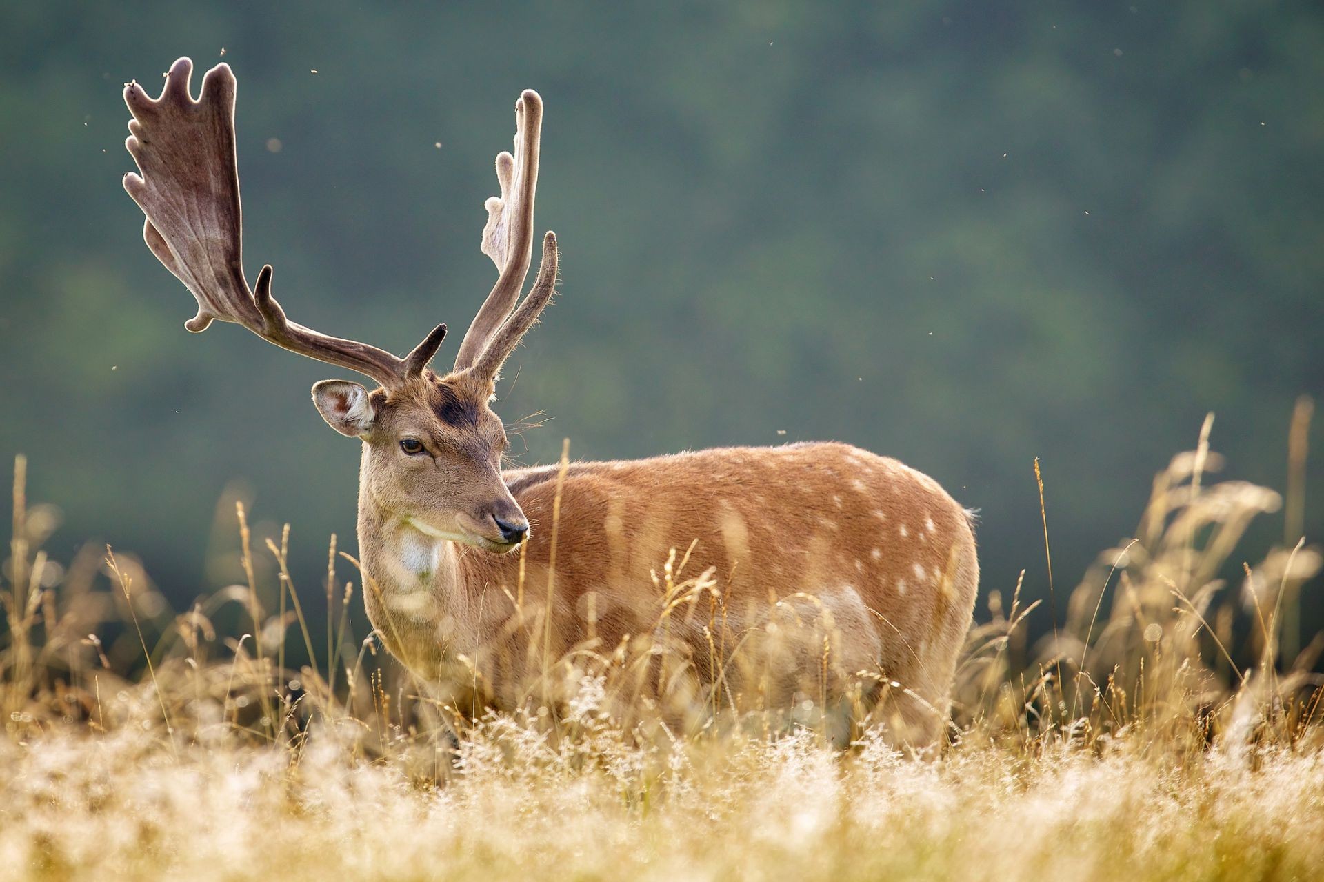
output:
[[[556,286],[556,236],[547,233],[538,279],[520,301],[534,249],[543,122],[538,93],[526,90],[515,103],[514,155],[496,156],[500,196],[487,200],[482,241],[496,264],[496,285],[459,344],[454,368],[440,376],[428,364],[445,324],[397,358],[289,320],[271,297],[270,265],[249,287],[241,260],[234,74],[217,65],[193,101],[192,70],[188,58],[176,61],[156,99],[136,82],[124,87],[134,117],[124,144],[142,172],[126,175],[124,189],[147,215],[147,246],[197,299],[197,315],[184,326],[196,332],[216,319],[234,322],[286,350],[376,380],[379,388],[371,391],[350,380],[312,387],[331,428],[364,445],[359,493],[428,535],[490,551],[516,547],[528,520],[500,475],[506,432],[490,401],[502,364]]]

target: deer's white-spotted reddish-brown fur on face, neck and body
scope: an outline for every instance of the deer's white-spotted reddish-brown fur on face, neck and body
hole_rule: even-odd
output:
[[[814,633],[831,632],[833,694],[845,695],[861,671],[875,671],[902,687],[904,739],[936,735],[978,563],[967,513],[932,478],[843,444],[573,462],[564,478],[557,466],[498,473],[504,436],[490,393],[489,381],[429,372],[372,395],[376,418],[364,436],[359,501],[372,583],[367,607],[388,648],[420,677],[481,683],[475,701],[498,707],[518,699],[528,642],[542,632],[520,630],[515,618],[543,621],[555,531],[553,660],[585,642],[610,652],[622,640],[655,636],[663,591],[655,576],[673,550],[675,562],[688,550],[674,579],[711,569],[726,607],[726,628],[715,634],[724,657],[779,609],[826,621],[830,628]],[[438,411],[438,401],[448,404]],[[463,418],[453,424],[442,415]],[[401,453],[402,434],[425,436],[436,460]],[[490,514],[510,515],[511,505],[531,526],[523,584],[520,554],[491,542],[498,534]],[[420,522],[448,534],[457,524],[490,528],[451,542],[410,526]],[[699,605],[700,616],[690,609],[674,620],[669,638],[690,650],[711,682],[722,671],[708,663],[714,629],[704,633],[707,600]],[[769,663],[793,683],[804,667],[813,673],[822,642],[816,640]],[[732,686],[730,670],[724,675],[728,690],[752,687]],[[775,686],[769,701],[793,694],[792,685]]]

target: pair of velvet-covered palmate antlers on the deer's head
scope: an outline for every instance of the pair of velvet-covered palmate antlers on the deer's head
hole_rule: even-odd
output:
[[[124,189],[147,215],[147,246],[197,299],[197,315],[184,327],[203,331],[216,319],[234,322],[277,346],[357,371],[388,388],[422,373],[446,335],[445,324],[401,359],[289,320],[271,297],[270,265],[258,273],[256,289],[249,287],[234,158],[234,74],[225,64],[208,70],[197,101],[189,93],[192,74],[192,61],[176,61],[155,99],[136,82],[124,86],[124,103],[134,115],[124,146],[142,172],[124,175]],[[483,228],[482,250],[496,264],[499,277],[465,334],[457,371],[495,379],[555,294],[556,236],[547,233],[538,282],[516,307],[534,250],[542,123],[543,101],[526,90],[515,103],[515,154],[496,156],[500,196],[487,200]]]

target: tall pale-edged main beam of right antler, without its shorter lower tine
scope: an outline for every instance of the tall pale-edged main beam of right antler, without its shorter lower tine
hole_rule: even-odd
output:
[[[534,256],[534,197],[538,189],[538,154],[543,131],[543,99],[526,89],[515,102],[515,155],[496,156],[500,196],[487,200],[483,254],[500,275],[474,317],[455,355],[455,369],[471,367],[493,334],[515,309]]]

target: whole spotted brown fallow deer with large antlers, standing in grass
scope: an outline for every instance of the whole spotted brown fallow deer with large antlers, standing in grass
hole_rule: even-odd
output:
[[[216,65],[195,99],[192,69],[177,60],[158,98],[124,86],[138,166],[124,188],[146,215],[148,249],[197,301],[187,330],[230,322],[376,383],[323,380],[312,401],[360,442],[364,605],[409,671],[437,690],[469,690],[475,709],[503,710],[528,698],[519,682],[531,658],[545,673],[547,658],[665,640],[683,653],[686,677],[659,679],[659,691],[688,683],[727,703],[757,694],[768,709],[806,694],[824,707],[850,699],[857,716],[886,707],[876,719],[887,738],[910,746],[947,731],[978,558],[973,513],[928,475],[838,442],[506,467],[507,432],[491,408],[500,371],[557,286],[547,232],[522,294],[542,144],[536,91],[515,103],[514,151],[498,154],[500,195],[486,201],[481,250],[496,281],[454,364],[438,372],[430,363],[446,324],[400,358],[287,318],[269,264],[249,286],[236,77]],[[732,661],[741,650],[759,671]]]

